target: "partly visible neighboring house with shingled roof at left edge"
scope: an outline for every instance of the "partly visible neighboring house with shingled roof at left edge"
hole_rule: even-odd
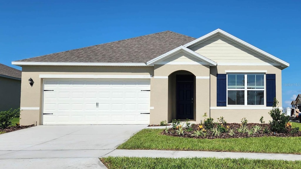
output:
[[[0,111],[20,107],[21,73],[0,63]]]

